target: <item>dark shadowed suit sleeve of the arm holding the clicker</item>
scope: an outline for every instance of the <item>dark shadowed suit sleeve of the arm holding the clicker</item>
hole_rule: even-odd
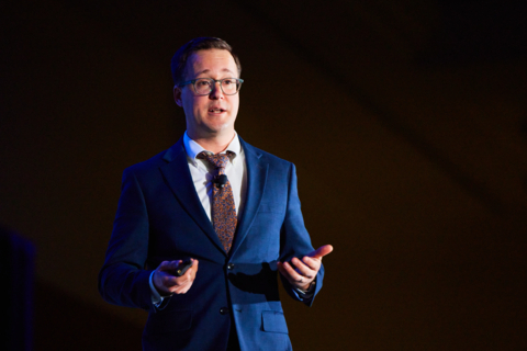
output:
[[[145,270],[148,254],[148,213],[142,189],[132,170],[123,173],[121,197],[99,273],[99,292],[109,303],[154,310]]]

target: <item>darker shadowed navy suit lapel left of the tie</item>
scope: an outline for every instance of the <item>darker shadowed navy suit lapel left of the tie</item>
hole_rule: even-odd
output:
[[[192,176],[190,174],[187,152],[183,147],[183,139],[180,138],[172,147],[170,147],[162,157],[166,165],[160,167],[161,173],[171,189],[181,206],[187,211],[189,216],[200,226],[200,228],[216,245],[218,250],[224,254],[223,246],[217,238],[211,220],[206,216],[203,205],[195,193]]]

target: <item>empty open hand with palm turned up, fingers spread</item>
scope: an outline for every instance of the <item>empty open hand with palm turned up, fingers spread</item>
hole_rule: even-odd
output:
[[[278,271],[282,274],[288,282],[296,288],[307,291],[311,282],[313,282],[321,269],[322,258],[333,251],[333,246],[324,245],[315,251],[307,253],[299,260],[293,258],[291,263],[278,262]]]

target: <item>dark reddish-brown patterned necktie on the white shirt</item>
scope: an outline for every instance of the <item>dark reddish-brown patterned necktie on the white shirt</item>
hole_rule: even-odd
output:
[[[237,223],[233,188],[231,188],[231,182],[225,176],[225,166],[227,166],[229,155],[236,154],[227,151],[227,154],[214,155],[202,151],[197,156],[199,159],[208,160],[216,169],[212,183],[212,225],[227,253],[233,244]]]

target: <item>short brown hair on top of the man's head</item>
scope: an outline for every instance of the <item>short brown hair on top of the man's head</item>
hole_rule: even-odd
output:
[[[233,52],[233,47],[228,45],[227,42],[218,37],[202,36],[184,44],[176,52],[176,54],[173,54],[172,61],[170,64],[173,84],[179,86],[184,81],[184,76],[187,73],[187,60],[193,53],[212,48],[227,50],[231,53],[231,55],[233,55],[236,67],[238,68],[239,77],[242,73],[242,65],[239,64],[238,56]]]

